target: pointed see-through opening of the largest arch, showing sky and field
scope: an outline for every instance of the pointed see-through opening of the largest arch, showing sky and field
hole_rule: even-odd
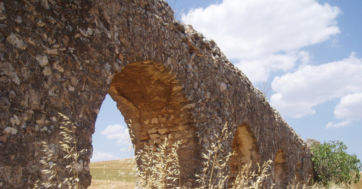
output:
[[[121,187],[123,185],[135,187],[132,175],[119,175],[118,170],[130,167],[129,158],[134,156],[134,150],[130,145],[130,137],[124,118],[117,109],[117,104],[106,95],[94,125],[92,134],[93,153],[90,159],[89,172],[92,176],[90,188],[105,187],[104,180],[111,180],[108,185]],[[120,161],[124,159],[125,161]],[[127,162],[127,163],[126,163]],[[117,182],[129,181],[129,182]]]

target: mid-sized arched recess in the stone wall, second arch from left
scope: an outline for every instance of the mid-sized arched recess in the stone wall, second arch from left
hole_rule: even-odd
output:
[[[250,164],[250,168],[252,170],[256,170],[257,163],[261,163],[261,155],[257,139],[249,125],[241,124],[236,129],[231,148],[235,154],[231,157],[229,163],[229,183],[235,181],[236,176],[244,166]]]

